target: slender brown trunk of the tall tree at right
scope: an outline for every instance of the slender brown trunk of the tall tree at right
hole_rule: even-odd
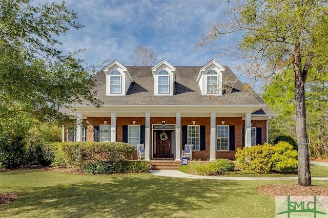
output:
[[[308,135],[306,134],[305,115],[305,80],[308,66],[301,69],[301,55],[299,46],[295,47],[293,70],[295,77],[295,109],[296,109],[296,138],[298,148],[298,184],[311,186],[310,159]],[[306,64],[305,64],[306,65]]]

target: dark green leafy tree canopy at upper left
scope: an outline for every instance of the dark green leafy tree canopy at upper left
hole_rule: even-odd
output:
[[[77,14],[64,2],[0,1],[0,119],[17,113],[59,119],[59,108],[81,100],[98,106],[90,69],[57,49],[61,35],[83,28]]]

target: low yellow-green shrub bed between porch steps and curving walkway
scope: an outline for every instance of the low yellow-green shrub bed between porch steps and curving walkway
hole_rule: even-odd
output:
[[[188,165],[180,166],[179,170],[193,175],[218,176],[227,171],[233,171],[234,167],[234,163],[228,159],[217,159],[209,163],[191,161]]]

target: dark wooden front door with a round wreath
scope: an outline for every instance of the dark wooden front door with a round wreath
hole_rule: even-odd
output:
[[[157,130],[156,144],[157,144],[157,158],[172,158],[172,132],[174,130]],[[174,154],[173,154],[174,155]]]

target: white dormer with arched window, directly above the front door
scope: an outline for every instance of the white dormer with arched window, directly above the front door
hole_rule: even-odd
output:
[[[175,67],[165,60],[160,61],[152,68],[155,96],[173,95],[175,71]]]

